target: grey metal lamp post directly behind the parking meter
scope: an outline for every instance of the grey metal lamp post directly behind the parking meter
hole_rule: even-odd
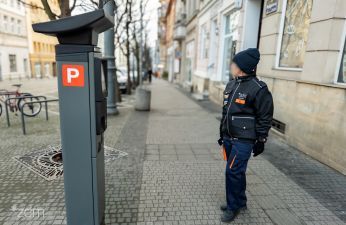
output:
[[[114,18],[114,0],[104,0],[103,9]],[[107,97],[107,114],[116,115],[118,109],[116,105],[116,85],[115,85],[115,57],[114,57],[114,28],[107,30],[104,33],[104,57],[107,59],[108,71],[108,97]]]

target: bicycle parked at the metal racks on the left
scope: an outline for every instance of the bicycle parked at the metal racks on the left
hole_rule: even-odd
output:
[[[17,89],[15,91],[0,89],[0,116],[3,111],[3,107],[1,103],[3,103],[6,107],[6,100],[8,100],[11,97],[16,97],[16,99],[8,100],[7,107],[9,108],[11,112],[15,113],[16,115],[17,115],[17,112],[20,111],[25,116],[34,117],[41,112],[41,109],[42,109],[41,103],[26,104],[24,105],[24,107],[22,107],[24,103],[39,101],[40,100],[39,98],[33,96],[30,93],[20,92],[19,90],[20,90],[20,87],[22,86],[21,84],[13,84],[12,86],[16,87]]]

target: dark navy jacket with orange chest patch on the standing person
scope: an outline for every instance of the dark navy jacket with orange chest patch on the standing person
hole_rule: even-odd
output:
[[[233,79],[224,91],[220,137],[267,137],[273,111],[273,98],[263,81],[255,75]]]

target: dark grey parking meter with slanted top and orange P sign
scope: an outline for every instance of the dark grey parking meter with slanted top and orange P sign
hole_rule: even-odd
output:
[[[96,47],[98,34],[114,26],[100,9],[34,24],[38,33],[56,36],[68,225],[104,224],[104,141],[107,127],[107,70]]]

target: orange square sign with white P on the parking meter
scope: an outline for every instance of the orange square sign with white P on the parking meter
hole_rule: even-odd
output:
[[[67,87],[84,87],[84,66],[63,64],[62,84]]]

